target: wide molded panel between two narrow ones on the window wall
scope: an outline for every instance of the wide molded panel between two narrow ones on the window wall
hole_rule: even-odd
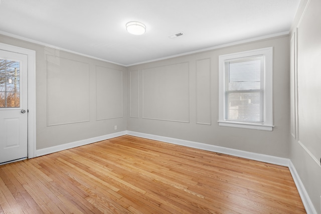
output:
[[[189,62],[142,70],[142,117],[190,122]]]

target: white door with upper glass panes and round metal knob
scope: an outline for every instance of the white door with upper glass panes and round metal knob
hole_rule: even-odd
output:
[[[0,164],[28,156],[28,57],[0,50]]]

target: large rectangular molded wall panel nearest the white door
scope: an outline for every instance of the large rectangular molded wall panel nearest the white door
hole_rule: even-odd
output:
[[[89,64],[46,55],[47,126],[88,122]]]

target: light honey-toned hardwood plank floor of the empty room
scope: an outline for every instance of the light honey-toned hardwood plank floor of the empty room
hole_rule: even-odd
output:
[[[305,213],[289,169],[121,136],[0,166],[0,213]]]

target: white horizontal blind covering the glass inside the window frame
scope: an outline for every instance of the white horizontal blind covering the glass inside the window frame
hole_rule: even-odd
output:
[[[263,123],[264,56],[225,61],[226,120]]]

